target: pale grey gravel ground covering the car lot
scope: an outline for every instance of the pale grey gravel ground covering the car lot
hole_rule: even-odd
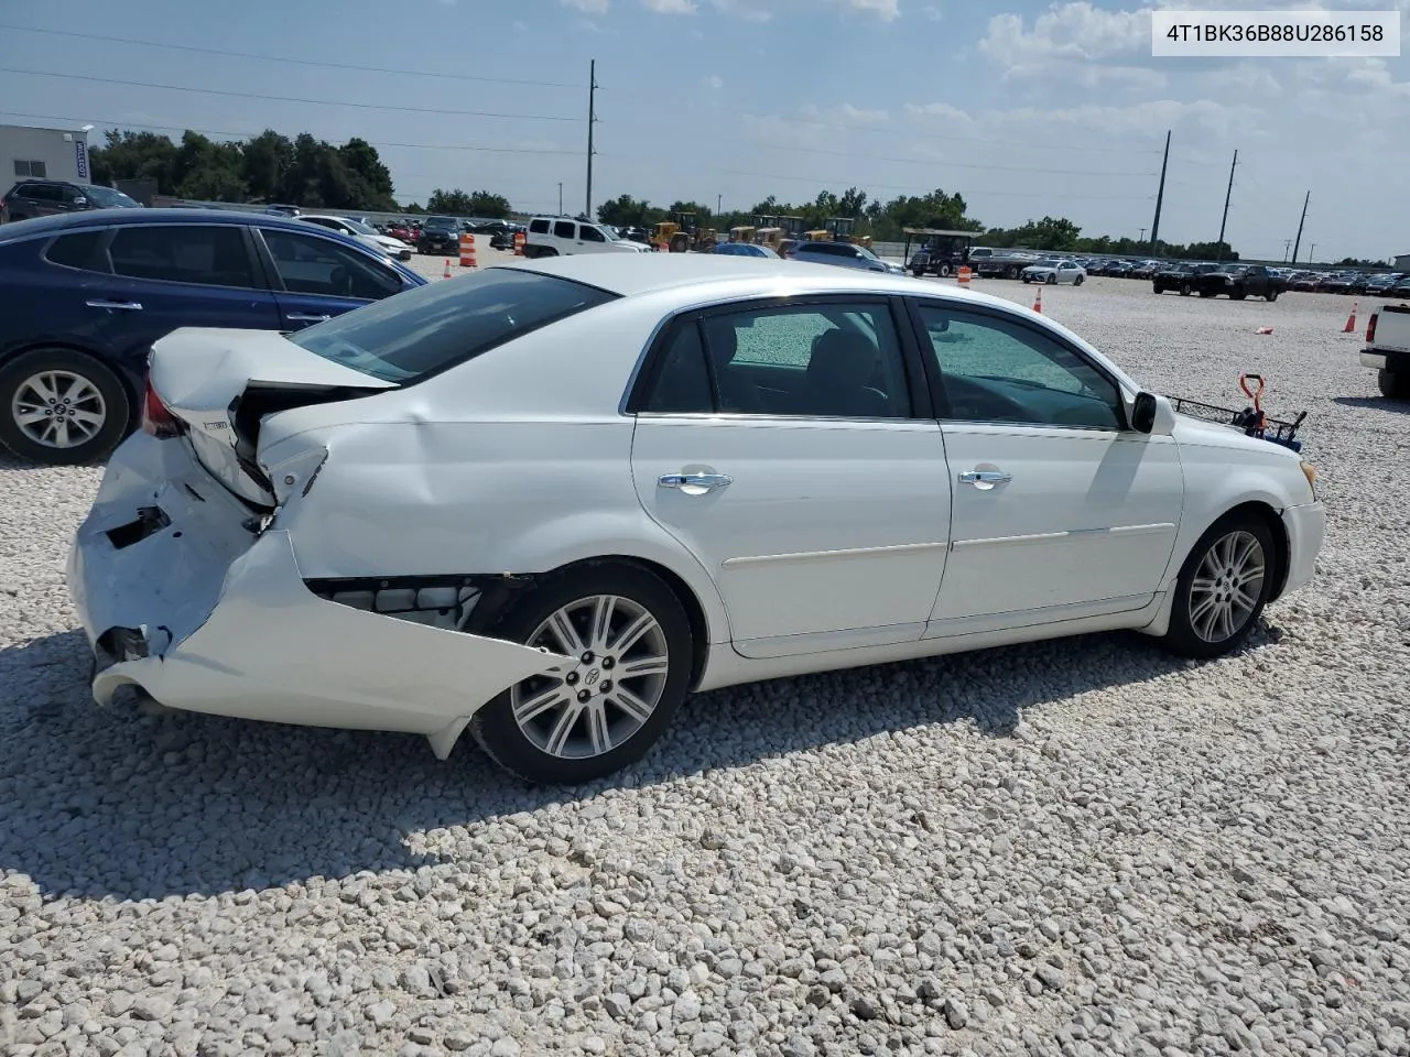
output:
[[[571,792],[97,710],[61,565],[99,472],[3,464],[0,1051],[1410,1053],[1410,407],[1338,297],[1043,307],[1308,409],[1318,579],[1211,664],[1111,634],[702,695]]]

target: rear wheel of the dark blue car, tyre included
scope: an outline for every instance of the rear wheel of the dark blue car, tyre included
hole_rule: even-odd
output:
[[[100,361],[66,348],[39,348],[0,369],[0,443],[51,466],[103,458],[127,433],[131,403]]]

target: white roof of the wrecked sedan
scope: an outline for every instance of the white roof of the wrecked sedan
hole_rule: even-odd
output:
[[[513,264],[492,266],[556,275],[622,297],[701,283],[759,283],[777,279],[792,293],[870,292],[891,296],[952,296],[1005,310],[1014,307],[1012,302],[1003,297],[979,290],[963,290],[956,295],[956,288],[939,286],[908,275],[735,254],[574,254],[515,258]]]

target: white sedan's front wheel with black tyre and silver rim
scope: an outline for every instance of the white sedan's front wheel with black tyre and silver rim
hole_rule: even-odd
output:
[[[1182,657],[1221,657],[1258,623],[1273,588],[1273,536],[1253,516],[1217,521],[1184,560],[1165,643]]]

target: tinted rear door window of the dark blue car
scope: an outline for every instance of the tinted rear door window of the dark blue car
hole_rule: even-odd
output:
[[[109,247],[113,271],[133,279],[252,288],[244,228],[234,224],[131,225]]]

